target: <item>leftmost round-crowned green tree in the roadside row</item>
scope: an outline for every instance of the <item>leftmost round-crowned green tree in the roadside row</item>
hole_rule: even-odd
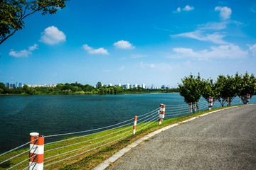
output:
[[[184,101],[189,105],[191,102],[198,102],[201,98],[203,89],[203,83],[201,81],[200,74],[198,73],[197,77],[193,77],[191,74],[188,77],[181,79],[181,81],[182,84],[178,84],[178,88],[180,89],[180,95],[184,97]],[[198,108],[198,103],[196,103],[196,107]],[[193,113],[195,113],[194,110]]]

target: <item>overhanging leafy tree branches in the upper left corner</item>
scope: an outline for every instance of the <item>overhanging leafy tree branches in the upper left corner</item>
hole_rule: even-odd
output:
[[[2,0],[0,5],[0,44],[17,30],[24,27],[24,18],[41,11],[42,16],[46,13],[53,14],[58,8],[65,7],[68,0]]]

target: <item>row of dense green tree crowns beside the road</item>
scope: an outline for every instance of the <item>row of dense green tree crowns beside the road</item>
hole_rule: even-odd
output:
[[[246,95],[250,94],[252,97],[256,93],[256,78],[253,74],[249,76],[247,72],[243,76],[237,72],[235,77],[219,75],[215,82],[213,79],[201,80],[199,74],[198,77],[190,75],[181,80],[183,84],[178,86],[186,103],[199,101],[200,96],[208,100],[211,96],[213,102],[218,100],[222,106],[225,103],[230,106],[236,96],[242,96],[243,103],[246,103]]]

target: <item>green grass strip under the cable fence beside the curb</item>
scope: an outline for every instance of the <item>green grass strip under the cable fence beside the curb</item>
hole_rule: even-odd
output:
[[[232,107],[232,106],[229,106],[229,107]],[[228,107],[223,107],[223,108],[228,108]],[[211,111],[217,111],[217,110],[220,110],[223,108],[213,108]],[[191,115],[185,115],[185,116],[182,116],[179,118],[170,118],[170,119],[164,120],[161,123],[161,125],[158,125],[158,122],[156,121],[154,123],[151,123],[151,125],[147,126],[146,128],[137,131],[135,135],[132,135],[133,125],[129,125],[129,126],[126,126],[123,128],[117,128],[115,130],[106,130],[105,132],[98,132],[93,135],[87,135],[87,136],[82,136],[82,137],[67,137],[66,139],[72,139],[72,140],[67,140],[64,142],[57,142],[57,143],[50,144],[50,145],[45,145],[44,165],[47,165],[47,164],[50,164],[53,162],[57,162],[61,159],[72,157],[75,154],[80,154],[82,152],[84,152],[84,153],[80,154],[77,157],[66,159],[62,162],[53,164],[51,166],[47,166],[45,169],[93,169],[95,166],[104,162],[105,159],[111,157],[113,154],[118,152],[120,149],[131,144],[135,140],[138,140],[139,138],[144,137],[145,135],[149,134],[150,132],[154,132],[155,130],[164,128],[167,125],[179,123],[183,120],[187,120],[189,118],[193,118],[193,117],[196,117],[197,115],[202,115],[202,114],[208,113],[208,112],[209,111],[201,111],[199,113],[193,113]],[[140,127],[142,127],[142,126],[143,126],[143,124]],[[140,127],[137,126],[137,129],[139,129]],[[127,132],[127,133],[122,134],[124,132]],[[108,135],[111,133],[114,133],[114,134]],[[119,135],[119,136],[116,137],[117,135]],[[105,136],[105,137],[102,137],[102,136]],[[125,136],[127,136],[127,137],[125,137]],[[111,142],[111,141],[119,139],[119,137],[124,137],[124,138],[122,140]],[[145,142],[147,142],[147,141],[149,141],[149,140],[146,140]],[[107,144],[108,142],[111,142],[111,143]],[[79,143],[79,144],[73,145],[75,143]],[[47,152],[50,149],[54,149],[57,147],[64,147],[67,145],[72,145],[72,146]],[[100,147],[101,145],[105,145],[105,146]],[[81,147],[84,147],[84,148],[79,149]],[[75,152],[70,152],[74,149],[79,149],[79,150],[77,150]],[[90,152],[87,152],[90,149],[93,149],[93,150]],[[10,152],[9,154],[5,154],[4,156],[0,157],[0,162],[3,162],[4,160],[9,159],[10,157],[14,157],[16,154],[25,152],[26,150],[28,150],[28,148],[19,149],[17,151]],[[70,152],[70,153],[63,154],[65,152]],[[63,154],[63,155],[59,155],[59,154]],[[59,155],[59,156],[53,157],[55,155]],[[53,157],[53,158],[47,159],[48,157]],[[16,157],[15,159],[11,159],[10,161],[5,162],[4,164],[0,164],[0,170],[8,169],[9,167],[18,164],[19,162],[23,161],[24,159],[28,159],[28,152],[21,154],[21,156]],[[24,169],[27,166],[28,166],[28,161],[23,162],[23,164],[16,166],[14,169]]]

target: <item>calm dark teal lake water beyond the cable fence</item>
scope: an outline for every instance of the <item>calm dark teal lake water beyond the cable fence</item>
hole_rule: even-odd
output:
[[[28,142],[30,132],[54,135],[101,128],[153,111],[160,103],[184,104],[179,94],[0,96],[0,152]]]

